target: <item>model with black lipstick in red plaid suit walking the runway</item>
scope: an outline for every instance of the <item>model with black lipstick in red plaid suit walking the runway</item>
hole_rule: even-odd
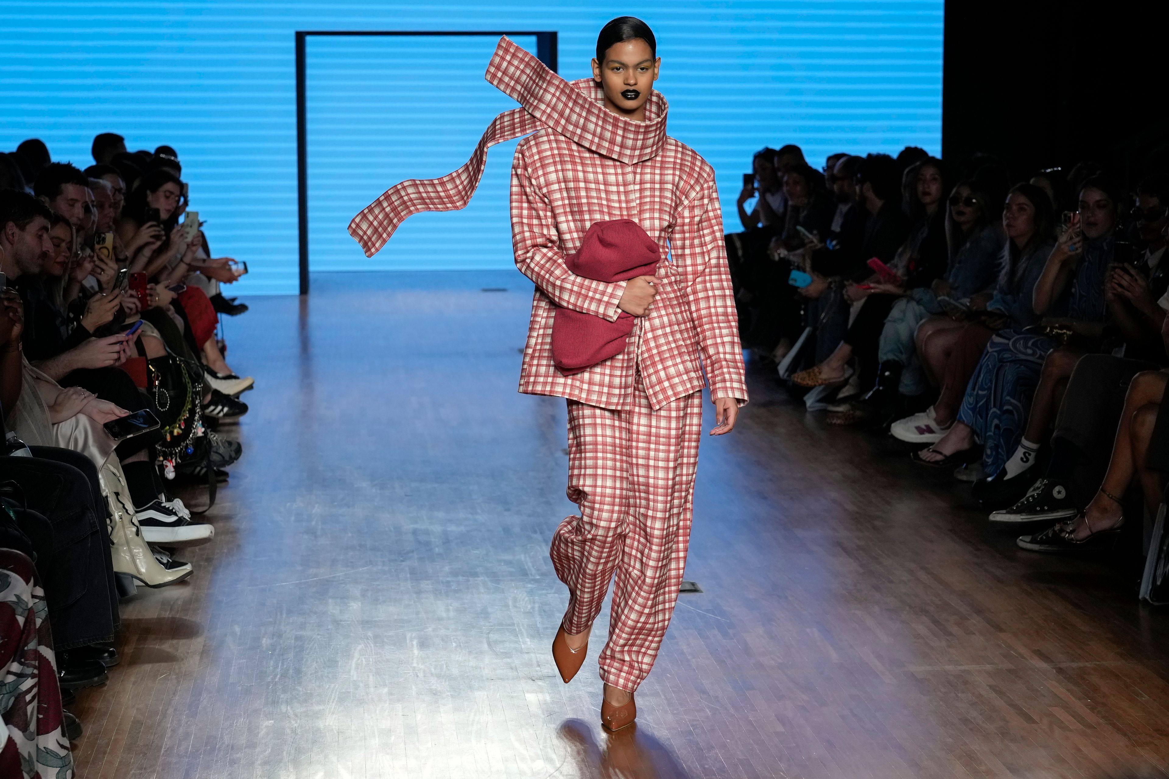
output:
[[[601,30],[593,78],[565,82],[507,39],[487,81],[523,107],[499,114],[471,160],[404,181],[354,217],[372,256],[410,214],[463,208],[492,144],[516,151],[516,265],[535,283],[520,391],[568,403],[568,498],[552,562],[568,608],[552,645],[565,682],[584,661],[615,579],[600,653],[610,730],[634,722],[673,613],[690,541],[703,369],[717,426],[747,401],[714,171],[665,134],[653,33]]]

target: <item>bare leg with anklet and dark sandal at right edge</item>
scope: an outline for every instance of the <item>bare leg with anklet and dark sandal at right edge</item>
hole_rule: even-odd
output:
[[[1075,541],[1082,541],[1093,533],[1118,528],[1125,522],[1125,514],[1120,506],[1120,499],[1125,496],[1125,491],[1133,482],[1136,472],[1136,458],[1134,457],[1134,427],[1148,425],[1149,419],[1156,420],[1156,409],[1161,404],[1161,398],[1165,392],[1165,381],[1169,374],[1147,370],[1133,378],[1128,387],[1128,395],[1125,397],[1125,410],[1120,415],[1120,425],[1116,429],[1116,440],[1112,447],[1112,459],[1108,461],[1108,472],[1104,477],[1100,491],[1084,509],[1084,514],[1075,517],[1068,526],[1068,530]],[[1151,406],[1147,410],[1144,406]],[[1151,436],[1151,427],[1148,429]],[[1143,452],[1148,450],[1148,443],[1142,445]],[[1109,498],[1112,495],[1112,498]],[[1115,500],[1114,500],[1115,499]],[[1157,496],[1160,501],[1160,496]]]

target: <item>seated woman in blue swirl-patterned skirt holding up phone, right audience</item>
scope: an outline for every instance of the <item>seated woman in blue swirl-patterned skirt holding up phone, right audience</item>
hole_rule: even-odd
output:
[[[1023,432],[1044,359],[1061,343],[1081,354],[1095,350],[1102,338],[1118,203],[1109,181],[1097,178],[1084,183],[1080,220],[1056,243],[1032,293],[1038,315],[1066,312],[1066,317],[1049,318],[1040,332],[996,333],[970,380],[957,423],[921,452],[921,459],[954,458],[977,441],[983,445],[983,473],[996,480],[1012,478],[1033,460],[1038,446],[1023,440]]]

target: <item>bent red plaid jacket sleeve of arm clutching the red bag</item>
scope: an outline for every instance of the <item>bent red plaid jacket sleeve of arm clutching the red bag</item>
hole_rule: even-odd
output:
[[[576,276],[565,264],[552,207],[531,179],[525,146],[516,149],[512,164],[511,217],[516,267],[532,279],[552,302],[610,322],[625,283],[609,284]]]

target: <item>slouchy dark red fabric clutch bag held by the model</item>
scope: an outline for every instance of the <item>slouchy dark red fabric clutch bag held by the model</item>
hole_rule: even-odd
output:
[[[595,281],[628,281],[652,276],[660,249],[632,220],[594,222],[581,249],[565,258],[568,270]],[[552,361],[565,376],[579,374],[625,350],[634,317],[621,312],[616,321],[558,307],[552,321]]]

